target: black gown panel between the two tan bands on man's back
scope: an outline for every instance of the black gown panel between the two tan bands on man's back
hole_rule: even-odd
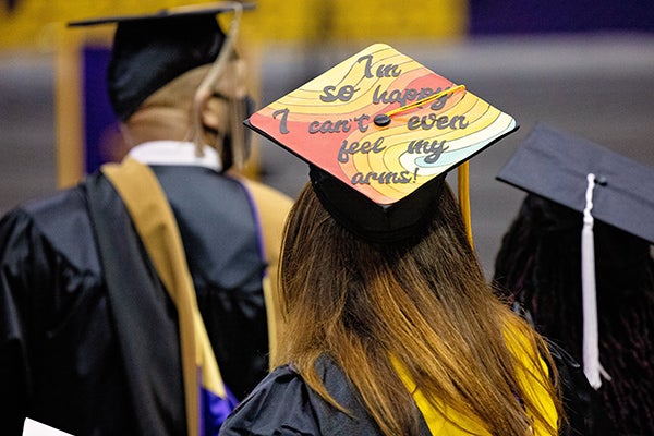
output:
[[[152,168],[174,213],[220,373],[243,399],[268,372],[256,205],[241,183],[213,170]]]

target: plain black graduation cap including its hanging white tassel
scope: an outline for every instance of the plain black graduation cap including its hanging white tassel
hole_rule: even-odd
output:
[[[598,144],[538,123],[497,179],[583,214],[583,365],[601,386],[593,222],[654,243],[654,170]]]

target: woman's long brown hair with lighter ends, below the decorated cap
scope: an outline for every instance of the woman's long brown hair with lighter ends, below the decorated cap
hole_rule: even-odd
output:
[[[287,222],[280,289],[288,340],[278,363],[291,362],[338,408],[315,371],[319,355],[330,356],[387,435],[415,434],[420,422],[390,356],[432,405],[477,416],[491,434],[526,435],[525,409],[545,422],[517,380],[525,366],[508,350],[507,330],[529,344],[529,365],[542,371],[534,378],[561,414],[535,352],[553,367],[546,346],[493,295],[448,186],[424,237],[373,244],[339,226],[307,184]]]

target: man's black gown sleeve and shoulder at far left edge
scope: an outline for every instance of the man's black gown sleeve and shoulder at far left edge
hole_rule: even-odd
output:
[[[3,435],[138,435],[82,186],[0,222]]]

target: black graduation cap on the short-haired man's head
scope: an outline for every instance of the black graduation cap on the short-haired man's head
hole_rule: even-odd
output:
[[[217,14],[252,8],[240,2],[187,5],[75,21],[69,26],[118,24],[107,82],[116,116],[125,121],[154,92],[217,59],[226,43]]]

